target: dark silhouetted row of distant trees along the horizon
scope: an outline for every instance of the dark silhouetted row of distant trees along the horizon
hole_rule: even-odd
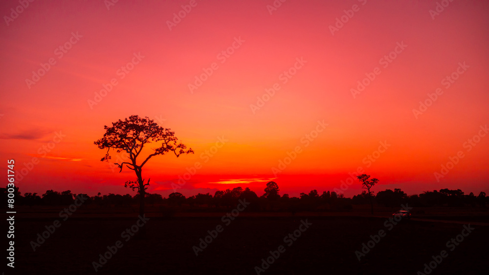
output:
[[[272,182],[273,183],[273,182]],[[21,193],[16,190],[16,205],[69,205],[74,202],[77,195],[86,198],[85,205],[98,205],[100,207],[131,207],[139,202],[139,194],[131,196],[130,194],[119,195],[109,193],[108,195],[89,196],[87,194],[73,194],[70,190],[57,192],[47,190],[42,196],[37,193]],[[7,189],[1,188],[3,197],[7,196]],[[379,191],[373,195],[374,202],[378,206],[399,207],[401,204],[408,203],[412,207],[486,207],[489,204],[489,197],[485,192],[479,195],[470,193],[468,195],[460,189],[439,191],[425,191],[421,194],[410,195],[400,189]],[[168,209],[177,211],[206,211],[212,209],[230,209],[236,207],[238,201],[242,199],[250,202],[247,211],[328,211],[341,210],[348,211],[353,205],[369,204],[368,193],[363,191],[353,198],[345,198],[343,194],[337,194],[334,191],[324,191],[319,194],[317,190],[311,190],[309,193],[301,193],[299,197],[289,197],[288,194],[279,195],[278,186],[273,183],[267,184],[265,193],[258,196],[249,188],[243,189],[237,187],[225,191],[216,191],[214,195],[209,193],[197,194],[195,196],[185,197],[179,192],[171,193],[168,198],[163,198],[160,194],[145,195],[145,204],[161,205]],[[5,207],[5,206],[2,206]]]

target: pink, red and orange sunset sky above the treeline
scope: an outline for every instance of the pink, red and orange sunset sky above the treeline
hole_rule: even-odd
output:
[[[145,165],[163,196],[351,197],[358,173],[489,193],[488,1],[21,2],[0,4],[0,159],[22,194],[135,194],[93,144],[130,115],[195,151]]]

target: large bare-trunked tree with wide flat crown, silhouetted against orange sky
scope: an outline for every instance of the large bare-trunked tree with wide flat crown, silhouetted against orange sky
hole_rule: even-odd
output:
[[[144,214],[144,196],[146,189],[149,185],[150,179],[144,183],[142,177],[142,168],[150,160],[150,158],[157,155],[164,155],[169,152],[174,152],[178,157],[181,154],[194,153],[192,148],[185,150],[187,147],[180,143],[177,143],[178,138],[175,137],[175,132],[172,132],[169,128],[163,128],[158,126],[149,117],[140,118],[137,115],[132,115],[129,118],[112,122],[112,127],[104,126],[106,130],[104,137],[95,141],[94,144],[100,149],[107,149],[107,153],[101,159],[101,161],[109,161],[111,156],[110,150],[116,150],[117,153],[126,151],[129,154],[129,161],[114,163],[119,167],[119,172],[122,172],[122,168],[127,167],[136,174],[135,181],[127,181],[125,187],[130,187],[139,193],[139,214]],[[140,156],[143,148],[149,143],[161,144],[157,148],[153,148],[153,153],[149,154],[146,158]],[[142,159],[142,161],[141,161]]]

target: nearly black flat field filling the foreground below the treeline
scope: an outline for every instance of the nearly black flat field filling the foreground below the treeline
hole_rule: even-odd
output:
[[[306,219],[309,228],[303,226],[305,231],[296,240],[284,241]],[[95,274],[92,262],[119,240],[123,246],[97,274],[257,274],[255,266],[261,266],[262,258],[280,245],[285,252],[260,274],[416,274],[442,250],[448,255],[430,274],[488,271],[487,226],[473,226],[459,245],[447,247],[462,233],[462,224],[412,220],[385,227],[386,218],[373,217],[238,216],[226,226],[220,217],[153,217],[144,225],[147,239],[126,241],[121,233],[136,218],[72,217],[34,252],[30,241],[36,241],[37,233],[53,221],[16,220],[16,274]],[[192,247],[218,225],[223,231],[196,256]],[[355,251],[379,230],[385,230],[385,236],[358,261]]]

